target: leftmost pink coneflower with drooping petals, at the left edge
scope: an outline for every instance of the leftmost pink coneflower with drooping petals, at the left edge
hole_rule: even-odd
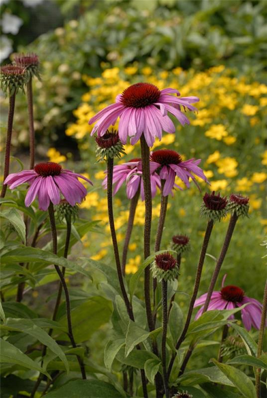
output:
[[[25,206],[28,207],[38,196],[39,208],[47,210],[50,201],[53,204],[60,202],[60,193],[72,206],[75,203],[81,203],[87,194],[87,190],[78,178],[82,178],[93,185],[88,178],[70,170],[64,170],[57,163],[47,162],[35,165],[33,170],[9,174],[4,184],[9,185],[12,190],[20,184],[28,183],[30,188],[25,198]]]

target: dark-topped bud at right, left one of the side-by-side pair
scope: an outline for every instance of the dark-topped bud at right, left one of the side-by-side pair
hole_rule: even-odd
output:
[[[215,191],[211,194],[206,192],[203,197],[200,213],[202,216],[207,217],[214,222],[221,221],[221,219],[227,215],[227,203],[228,201],[226,197],[221,197],[220,193],[215,195]]]

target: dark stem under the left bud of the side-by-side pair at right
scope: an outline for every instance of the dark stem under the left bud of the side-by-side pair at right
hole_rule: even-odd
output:
[[[191,317],[192,317],[192,312],[193,312],[193,309],[194,309],[194,304],[195,304],[196,297],[197,297],[197,294],[198,294],[198,289],[199,289],[199,285],[200,285],[200,279],[201,279],[203,264],[204,264],[204,260],[205,260],[205,256],[206,256],[206,252],[207,252],[207,248],[208,248],[208,244],[209,244],[209,240],[210,240],[210,236],[211,236],[213,225],[214,225],[214,222],[212,220],[209,220],[208,224],[207,224],[207,228],[206,228],[206,232],[205,232],[205,236],[204,236],[204,240],[203,240],[200,256],[199,256],[199,261],[198,261],[198,266],[197,266],[197,271],[196,271],[195,285],[194,285],[192,298],[190,300],[188,313],[187,313],[187,317],[186,317],[186,321],[185,321],[185,324],[184,324],[184,328],[183,328],[182,334],[179,337],[179,340],[177,341],[176,346],[175,346],[176,350],[178,350],[180,348],[180,345],[184,341],[185,336],[186,336],[186,332],[187,332],[189,324],[190,324],[190,320],[191,320]],[[173,363],[174,363],[176,355],[177,355],[177,352],[175,352],[172,355],[172,357],[171,357],[170,364],[169,364],[169,367],[168,367],[168,376],[171,373],[171,369],[172,369],[172,366],[173,366]]]

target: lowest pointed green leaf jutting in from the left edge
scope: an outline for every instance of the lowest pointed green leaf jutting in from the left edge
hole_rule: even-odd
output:
[[[23,354],[23,352],[16,348],[14,345],[8,343],[8,341],[5,341],[3,339],[0,339],[0,362],[15,364],[22,366],[23,368],[32,369],[43,373],[49,379],[51,379],[50,375],[36,362],[30,359],[27,355]]]

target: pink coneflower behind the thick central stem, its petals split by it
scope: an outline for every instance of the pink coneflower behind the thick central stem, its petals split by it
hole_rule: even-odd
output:
[[[152,198],[156,195],[156,187],[160,188],[160,178],[156,173],[150,176]],[[142,163],[141,159],[132,159],[127,163],[114,166],[113,184],[115,189],[113,195],[117,194],[123,183],[126,182],[126,192],[128,199],[133,199],[140,188],[141,199],[144,200],[143,181],[142,181]],[[107,177],[105,177],[103,187],[107,189]]]

